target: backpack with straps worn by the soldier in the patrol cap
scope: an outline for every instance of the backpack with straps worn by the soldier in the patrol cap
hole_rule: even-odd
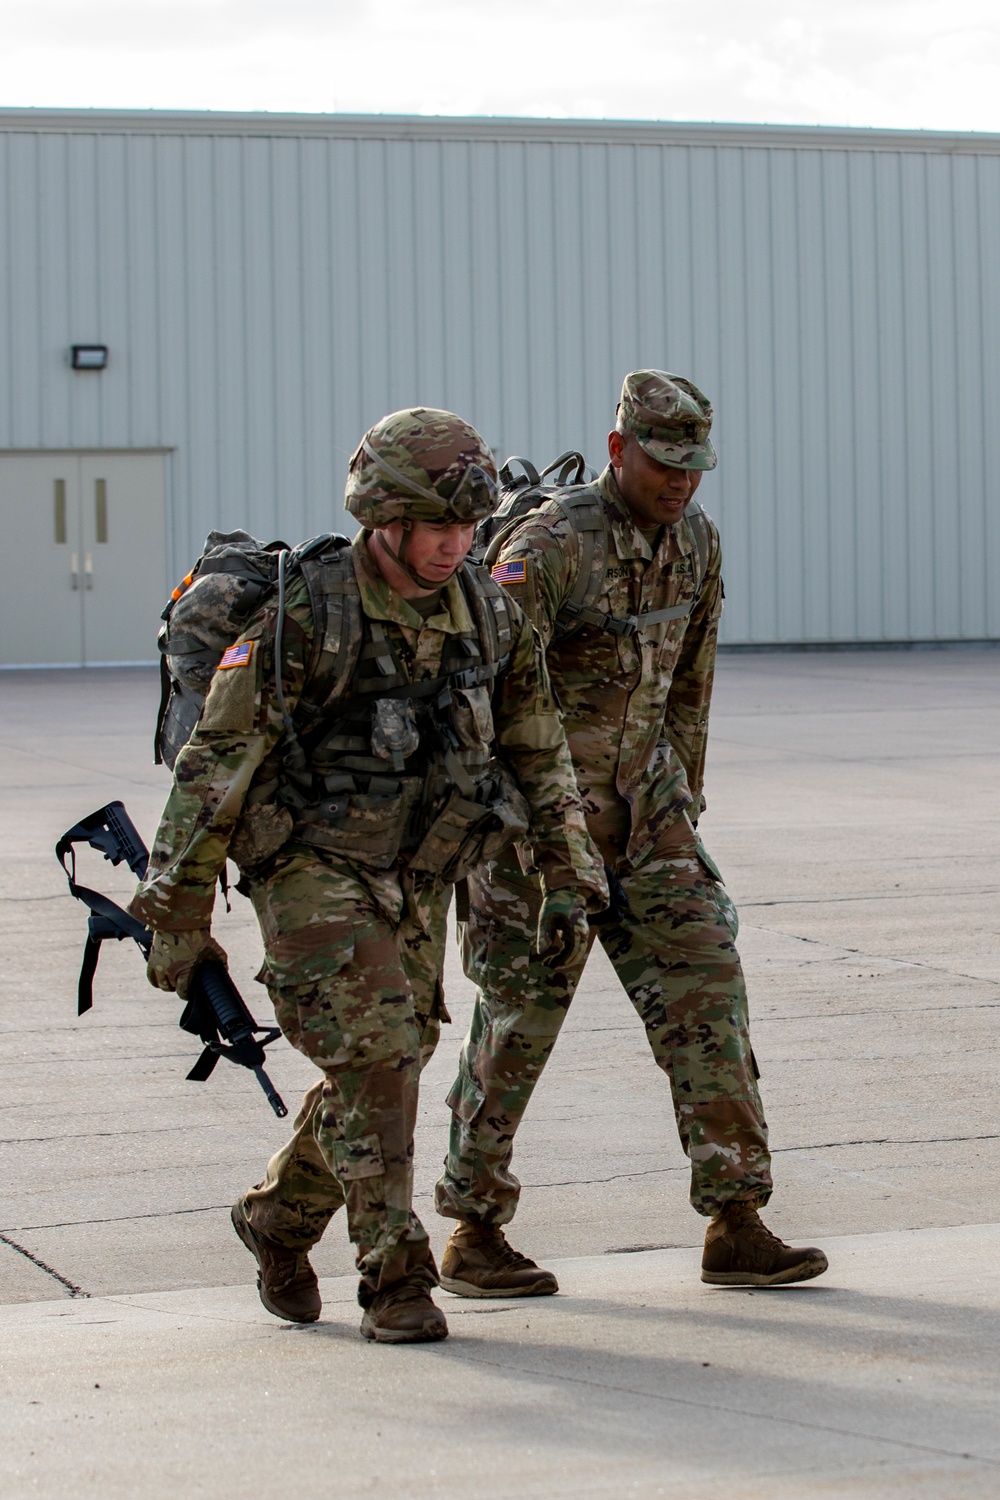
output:
[[[520,465],[520,474],[514,474],[511,468],[514,464]],[[553,477],[549,478],[549,476]],[[711,550],[708,516],[699,504],[693,501],[684,514],[694,537],[694,597],[691,602],[673,604],[670,609],[655,609],[642,618],[637,615],[616,616],[594,608],[604,590],[607,526],[603,501],[594,488],[597,476],[588,468],[583,454],[570,448],[553,459],[541,472],[528,459],[514,456],[501,465],[499,478],[502,500],[496,512],[480,522],[475,532],[474,555],[483,561],[484,567],[492,568],[504,543],[522,520],[550,500],[558,501],[580,538],[580,566],[573,590],[556,616],[556,639],[573,634],[582,626],[595,626],[615,636],[634,636],[646,626],[684,620],[691,614],[702,592]]]

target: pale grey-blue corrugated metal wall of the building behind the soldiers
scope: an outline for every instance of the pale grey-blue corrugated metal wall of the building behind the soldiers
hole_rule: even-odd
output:
[[[0,255],[0,448],[172,448],[174,570],[343,524],[396,406],[600,464],[655,364],[730,642],[1000,636],[1000,138],[7,111]]]

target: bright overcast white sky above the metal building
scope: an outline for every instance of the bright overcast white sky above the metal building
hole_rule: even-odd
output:
[[[0,0],[0,102],[1000,130],[1000,0]]]

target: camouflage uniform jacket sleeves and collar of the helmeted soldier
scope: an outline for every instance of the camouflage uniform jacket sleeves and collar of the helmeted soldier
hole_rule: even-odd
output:
[[[360,532],[351,548],[361,609],[387,622],[399,660],[411,681],[439,675],[448,634],[475,636],[475,626],[457,579],[441,608],[421,620],[378,573]],[[588,837],[558,706],[544,656],[519,609],[511,610],[510,664],[493,692],[496,753],[513,771],[531,807],[531,844],[549,890],[579,888],[600,909],[607,900],[601,861]],[[274,602],[267,603],[240,638],[252,642],[246,666],[217,670],[205,706],[174,768],[163,816],[153,842],[142,885],[130,904],[133,915],[159,932],[207,927],[214,885],[225,867],[229,842],[247,794],[280,774],[282,718],[274,700]],[[282,639],[282,686],[294,714],[306,686],[313,639],[313,614],[301,578],[289,580]],[[315,850],[313,850],[315,852]],[[364,872],[381,904],[402,900],[394,872]]]

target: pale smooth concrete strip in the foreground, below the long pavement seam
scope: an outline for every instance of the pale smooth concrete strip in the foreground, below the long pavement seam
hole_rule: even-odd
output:
[[[997,1226],[829,1240],[825,1281],[700,1286],[697,1256],[441,1294],[445,1344],[357,1335],[352,1278],[289,1328],[244,1287],[0,1310],[7,1496],[948,1500],[1000,1488]],[[276,1434],[280,1434],[276,1437]]]

